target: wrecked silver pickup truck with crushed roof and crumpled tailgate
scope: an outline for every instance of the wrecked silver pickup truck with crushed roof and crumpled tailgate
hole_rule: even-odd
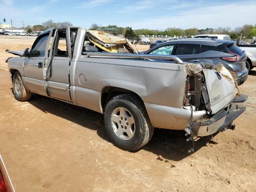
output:
[[[59,26],[40,34],[31,49],[7,50],[20,56],[7,60],[16,100],[36,93],[102,113],[106,132],[124,150],[146,145],[154,127],[185,130],[188,140],[234,129],[246,109],[247,96],[221,64],[106,53],[88,44],[88,33]]]

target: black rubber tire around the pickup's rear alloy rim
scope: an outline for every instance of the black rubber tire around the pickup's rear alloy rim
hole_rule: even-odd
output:
[[[129,140],[119,138],[112,128],[112,112],[118,107],[126,108],[134,118],[136,128],[134,136]],[[106,106],[104,122],[106,132],[114,144],[128,151],[134,151],[145,146],[152,138],[154,132],[154,127],[148,118],[142,101],[133,94],[122,94],[112,98]]]

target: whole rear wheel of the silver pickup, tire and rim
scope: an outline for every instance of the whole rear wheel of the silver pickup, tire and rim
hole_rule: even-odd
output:
[[[114,144],[128,151],[146,145],[154,132],[143,103],[132,94],[112,98],[106,106],[104,122]]]

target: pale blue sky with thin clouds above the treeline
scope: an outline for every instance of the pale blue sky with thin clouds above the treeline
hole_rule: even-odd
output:
[[[235,28],[256,24],[256,0],[0,0],[0,22],[13,26],[70,21],[74,26]]]

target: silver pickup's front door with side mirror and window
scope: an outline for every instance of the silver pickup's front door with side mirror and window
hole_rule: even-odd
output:
[[[44,89],[43,68],[48,60],[50,37],[54,28],[51,28],[36,38],[30,50],[30,57],[24,60],[24,81],[28,90],[46,95]]]

